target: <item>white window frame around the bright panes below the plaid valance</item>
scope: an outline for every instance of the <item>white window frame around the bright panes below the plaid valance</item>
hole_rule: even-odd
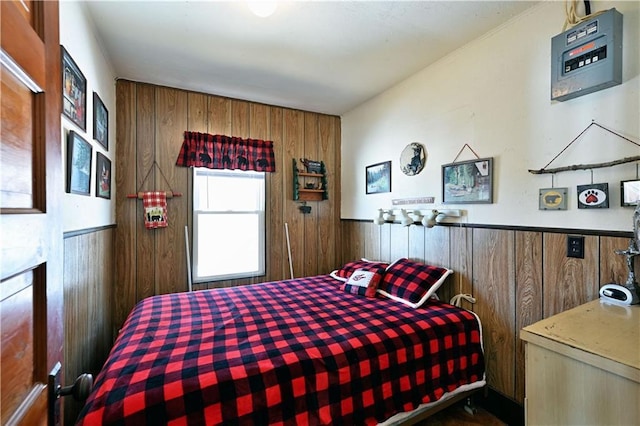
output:
[[[261,179],[262,180],[262,193],[258,194],[262,198],[262,202],[259,204],[259,210],[214,210],[213,208],[204,208],[204,209],[196,209],[196,206],[199,206],[200,193],[198,191],[198,185],[196,180],[196,175],[207,175],[207,176],[234,176],[241,179]],[[250,196],[254,196],[252,193]],[[200,253],[198,250],[199,247],[199,217],[201,215],[217,215],[217,214],[225,214],[228,215],[230,213],[235,213],[238,215],[244,214],[258,214],[258,227],[259,227],[259,238],[258,238],[258,250],[259,250],[259,259],[258,259],[258,269],[254,271],[241,271],[238,273],[227,273],[227,274],[215,274],[215,275],[207,275],[203,276],[199,273],[199,262],[200,262]],[[241,231],[241,230],[239,230]],[[265,263],[266,263],[266,176],[264,172],[253,172],[253,171],[238,171],[238,170],[212,170],[206,168],[193,168],[193,260],[192,260],[192,277],[194,283],[203,283],[203,282],[213,282],[213,281],[222,281],[222,280],[230,280],[230,279],[239,279],[239,278],[252,278],[257,276],[265,275]],[[224,242],[221,242],[224,244]],[[206,261],[206,259],[203,259]]]

